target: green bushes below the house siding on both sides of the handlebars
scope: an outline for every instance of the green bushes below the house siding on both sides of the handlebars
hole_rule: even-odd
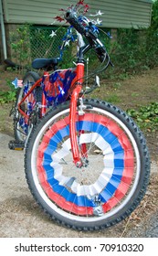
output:
[[[31,28],[31,29],[30,29]],[[48,28],[49,31],[51,27]],[[47,31],[48,31],[47,29]],[[56,27],[57,29],[57,27]],[[23,25],[17,27],[16,33],[12,33],[11,48],[16,58],[16,64],[22,67],[30,65],[32,59],[39,57],[58,57],[59,46],[62,44],[62,35],[66,28],[58,30],[58,37],[49,37],[50,32],[42,31],[42,28]],[[149,28],[140,29],[118,29],[117,42],[109,43],[105,35],[101,38],[109,49],[111,60],[115,69],[112,74],[135,73],[144,69],[151,69],[158,65],[158,0],[153,3],[152,25]],[[37,48],[37,52],[33,48]],[[47,50],[48,49],[48,50]],[[61,68],[68,68],[72,63],[73,47],[66,48]],[[46,56],[46,52],[48,53]],[[94,53],[89,53],[91,71],[99,67],[98,59]],[[111,69],[106,72],[111,75]],[[105,76],[105,74],[103,74]],[[106,76],[107,76],[106,75]]]

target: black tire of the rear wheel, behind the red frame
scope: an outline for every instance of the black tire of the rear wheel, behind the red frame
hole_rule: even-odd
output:
[[[29,133],[29,127],[28,127],[27,131],[25,131],[19,123],[21,114],[17,110],[17,105],[23,99],[23,97],[25,95],[25,92],[24,92],[25,84],[26,83],[28,84],[28,91],[29,91],[30,88],[32,87],[32,85],[38,79],[39,79],[39,75],[36,72],[34,72],[34,71],[27,72],[23,79],[24,86],[22,88],[18,88],[18,90],[16,92],[16,104],[15,104],[15,113],[14,113],[14,135],[15,135],[16,142],[24,143],[26,141],[26,136]],[[42,95],[42,89],[40,87],[37,87],[37,89],[35,90],[36,101],[41,102],[41,95]],[[25,111],[26,111],[26,109],[25,109]],[[30,128],[31,128],[31,124],[30,124]]]

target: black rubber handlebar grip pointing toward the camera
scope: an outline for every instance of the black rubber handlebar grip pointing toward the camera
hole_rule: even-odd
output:
[[[86,29],[83,27],[76,16],[74,16],[71,12],[67,12],[65,15],[66,20],[70,25],[75,27],[75,29],[81,34],[86,35]]]

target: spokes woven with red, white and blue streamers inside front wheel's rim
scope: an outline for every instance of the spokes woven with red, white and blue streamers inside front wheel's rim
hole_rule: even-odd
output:
[[[82,216],[85,219],[89,219],[91,216],[91,218],[96,219],[106,215],[106,212],[111,215],[112,209],[121,208],[123,201],[129,200],[128,197],[133,187],[133,167],[131,169],[127,165],[125,169],[123,164],[125,161],[127,161],[127,164],[132,163],[132,153],[128,154],[127,149],[127,146],[131,144],[129,134],[125,133],[126,130],[123,127],[120,129],[117,120],[112,120],[106,114],[100,115],[102,115],[100,112],[97,116],[96,112],[90,110],[88,115],[85,113],[85,117],[80,118],[80,123],[78,115],[76,117],[79,149],[83,157],[83,166],[80,168],[73,163],[71,154],[68,112],[58,114],[58,118],[52,119],[48,123],[47,129],[37,146],[38,149],[42,144],[41,150],[43,153],[47,150],[46,162],[43,165],[47,174],[44,182],[46,181],[50,186],[52,184],[57,197],[53,193],[51,197],[51,191],[47,191],[49,188],[45,188],[45,183],[43,189],[47,193],[47,197],[50,195],[49,199],[52,198],[58,208],[69,216],[76,215],[77,218]],[[112,127],[112,124],[114,127]],[[121,133],[119,133],[120,131]],[[122,135],[123,133],[124,135]],[[132,147],[130,150],[134,151]],[[42,155],[39,159],[41,165],[44,160]],[[86,162],[86,159],[89,161]],[[128,162],[129,159],[130,162]],[[50,164],[47,160],[50,161]],[[137,166],[137,163],[135,165]],[[57,184],[54,185],[53,182],[56,182],[56,180]],[[41,184],[41,186],[43,185]],[[96,200],[95,203],[97,197],[99,200]],[[101,208],[102,215],[98,212]]]

